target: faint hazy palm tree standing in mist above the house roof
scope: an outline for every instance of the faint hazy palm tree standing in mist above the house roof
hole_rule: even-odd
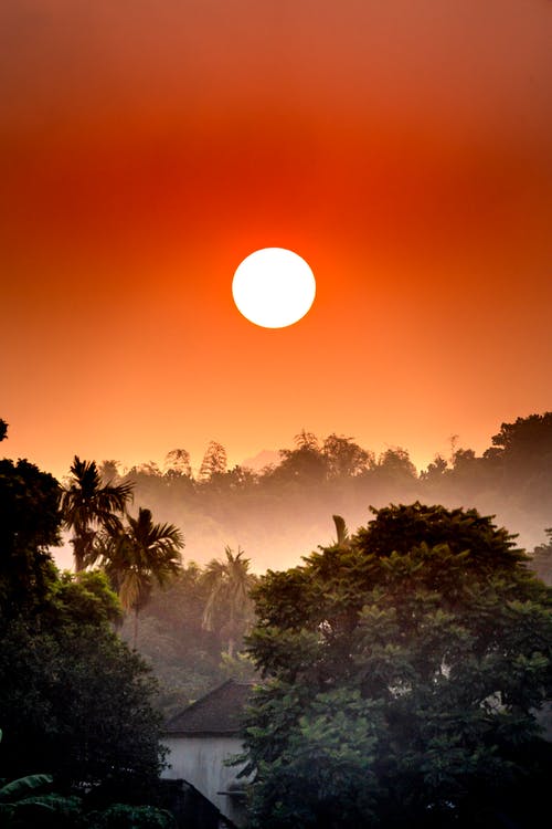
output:
[[[204,571],[209,597],[203,611],[202,626],[205,630],[221,627],[229,639],[227,654],[234,655],[235,641],[244,633],[253,616],[253,602],[250,590],[256,577],[250,573],[250,559],[244,558],[240,547],[234,555],[231,547],[225,548],[226,560],[211,559]],[[227,613],[227,621],[221,623],[221,616]]]

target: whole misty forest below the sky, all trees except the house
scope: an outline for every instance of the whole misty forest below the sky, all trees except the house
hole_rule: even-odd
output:
[[[532,827],[551,518],[552,412],[421,472],[305,430],[261,471],[216,442],[195,476],[183,449],[162,470],[75,455],[62,482],[0,461],[3,825],[173,826],[163,723],[237,678],[259,683],[252,828],[467,826],[484,784],[481,826]]]

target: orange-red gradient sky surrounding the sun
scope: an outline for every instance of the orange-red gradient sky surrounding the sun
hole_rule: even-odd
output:
[[[551,99],[549,0],[3,0],[4,453],[420,468],[552,409]],[[232,301],[265,246],[288,328]]]

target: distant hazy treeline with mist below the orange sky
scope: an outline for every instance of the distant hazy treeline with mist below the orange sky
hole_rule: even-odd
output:
[[[148,463],[123,472],[115,461],[99,469],[106,481],[131,481],[137,503],[182,528],[188,560],[208,562],[230,544],[247,552],[257,573],[291,566],[330,541],[332,514],[358,526],[370,505],[416,500],[476,506],[532,549],[552,523],[552,412],[502,423],[480,455],[453,445],[449,458],[437,455],[421,472],[405,449],[376,457],[351,438],[307,431],[259,472],[227,469],[226,452],[215,442],[197,475],[184,449],[169,452],[162,469]]]

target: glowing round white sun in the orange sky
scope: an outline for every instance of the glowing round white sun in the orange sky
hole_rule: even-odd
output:
[[[285,328],[307,314],[316,280],[301,256],[285,248],[263,248],[237,266],[232,294],[241,314],[263,328]]]

